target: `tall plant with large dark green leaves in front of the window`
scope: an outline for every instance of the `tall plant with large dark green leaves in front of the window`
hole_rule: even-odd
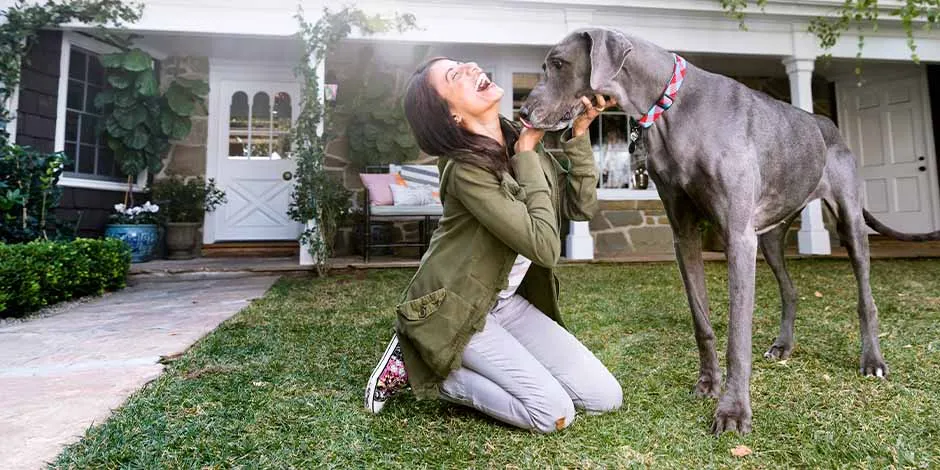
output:
[[[109,86],[95,98],[95,106],[104,116],[105,141],[128,175],[127,204],[133,178],[145,170],[159,172],[170,141],[189,135],[190,118],[205,106],[209,86],[176,77],[161,94],[153,57],[139,48],[104,55],[101,64]]]

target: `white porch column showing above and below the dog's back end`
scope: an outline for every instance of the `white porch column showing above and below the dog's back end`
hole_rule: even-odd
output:
[[[790,102],[793,106],[813,112],[813,67],[815,58],[787,57],[783,65],[790,77]],[[799,252],[804,255],[828,255],[829,232],[823,224],[822,204],[819,199],[811,201],[800,214],[800,232],[797,234]]]

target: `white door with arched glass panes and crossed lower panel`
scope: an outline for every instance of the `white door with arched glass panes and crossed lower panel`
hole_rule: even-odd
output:
[[[218,177],[228,196],[215,239],[292,240],[301,225],[287,216],[294,160],[288,154],[300,87],[283,81],[222,81]]]

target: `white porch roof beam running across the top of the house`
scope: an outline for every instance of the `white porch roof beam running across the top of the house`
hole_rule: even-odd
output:
[[[370,13],[412,13],[419,30],[380,34],[375,40],[417,43],[463,43],[546,46],[567,32],[586,26],[617,28],[649,39],[670,50],[686,52],[816,57],[822,55],[808,21],[832,12],[838,0],[770,0],[764,13],[746,18],[749,31],[722,12],[716,0],[366,0],[359,7]],[[884,1],[878,33],[866,35],[865,57],[909,60],[910,51]],[[335,2],[301,1],[308,16]],[[298,3],[291,0],[150,0],[143,18],[131,29],[246,37],[291,36],[297,31]],[[79,26],[79,25],[75,25]],[[921,60],[940,62],[940,32],[918,34]],[[353,36],[354,38],[356,36]],[[361,38],[361,37],[360,37]],[[857,36],[846,34],[831,51],[836,58],[854,58]]]

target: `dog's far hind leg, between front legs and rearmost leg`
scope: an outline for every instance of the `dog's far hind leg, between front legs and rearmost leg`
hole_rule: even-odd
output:
[[[786,242],[787,230],[793,218],[778,225],[773,230],[760,236],[760,248],[764,260],[770,265],[777,284],[780,287],[780,334],[774,339],[770,349],[764,353],[767,359],[786,359],[793,352],[793,322],[796,320],[796,289],[787,272],[786,260],[783,256],[783,247]]]

